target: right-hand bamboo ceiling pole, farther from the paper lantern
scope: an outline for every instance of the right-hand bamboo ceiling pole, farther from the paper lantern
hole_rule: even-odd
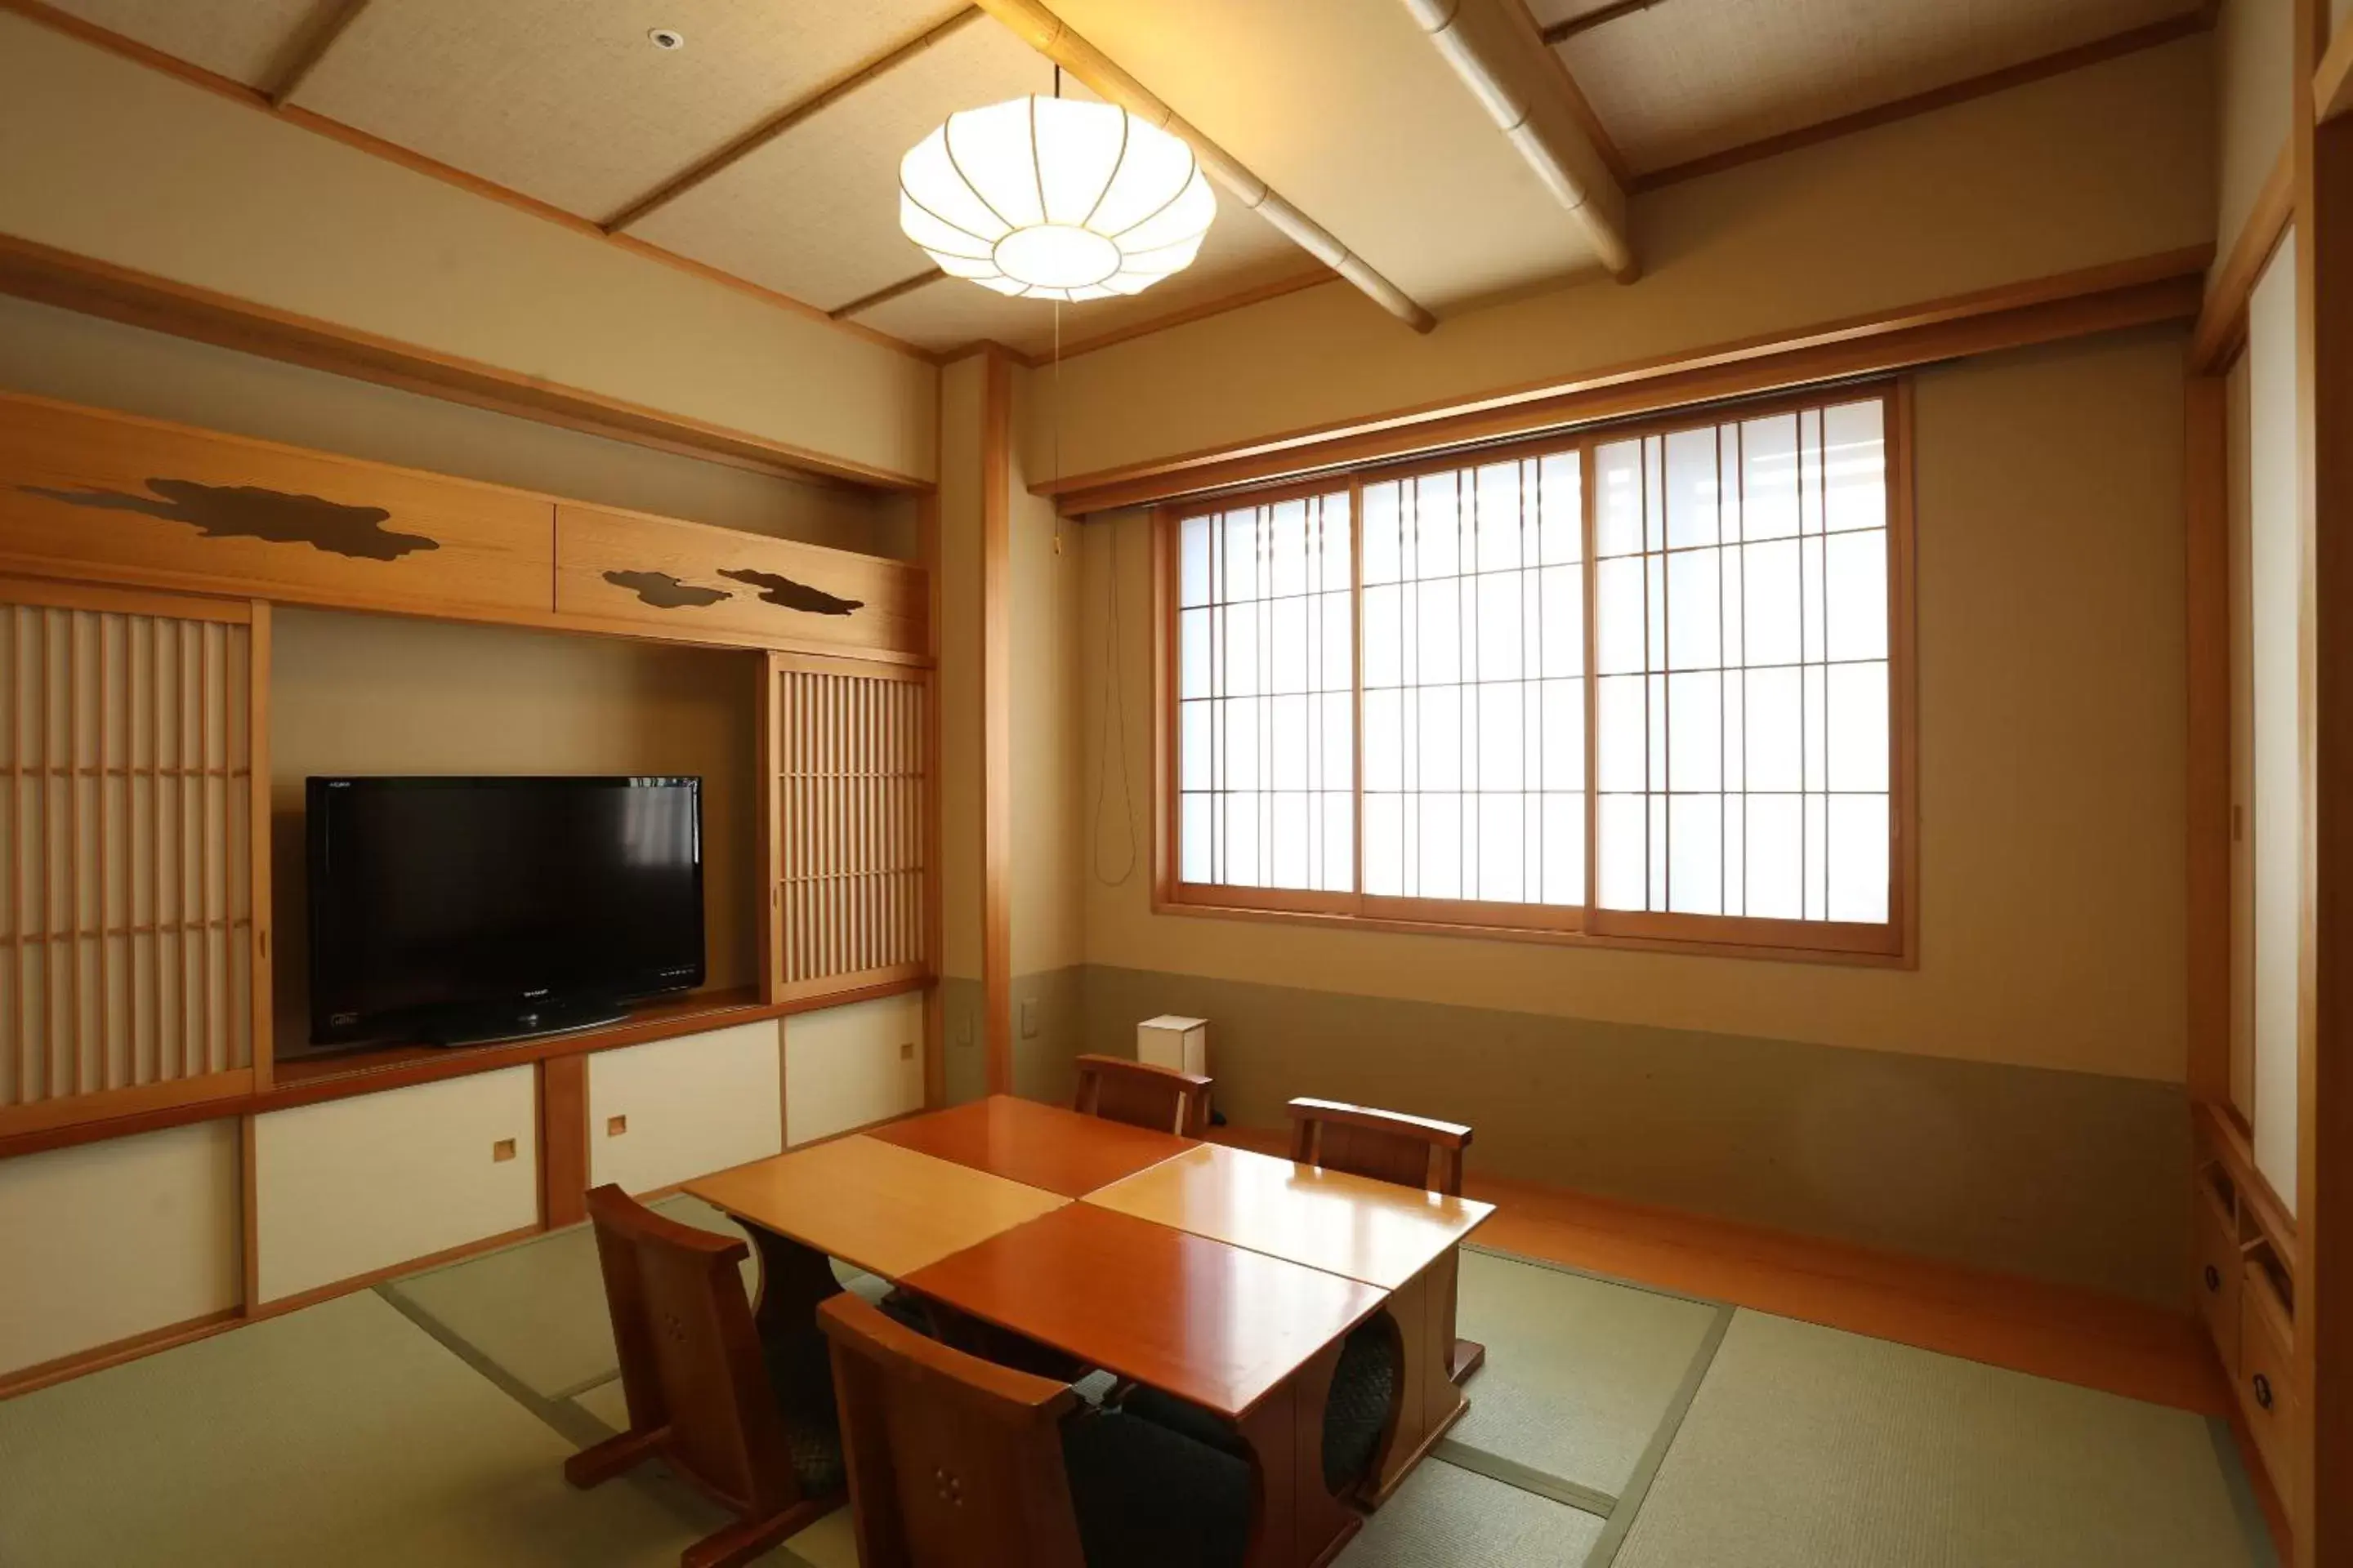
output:
[[[1520,0],[1405,0],[1405,9],[1454,66],[1504,141],[1586,230],[1619,282],[1642,268],[1626,237],[1626,190],[1586,129],[1591,110]],[[1532,89],[1522,92],[1522,82]],[[1584,115],[1579,110],[1586,110]]]

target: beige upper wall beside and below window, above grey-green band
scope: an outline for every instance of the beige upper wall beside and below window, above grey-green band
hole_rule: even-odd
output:
[[[1979,1063],[2184,1077],[2181,339],[1918,376],[1920,966],[1842,969],[1153,914],[1085,884],[1087,961]],[[1151,562],[1118,531],[1127,762],[1151,778]],[[1104,663],[1082,661],[1101,778]],[[1113,780],[1115,783],[1115,780]],[[1136,802],[1148,832],[1148,783]],[[1113,799],[1118,792],[1113,790]],[[1115,818],[1113,818],[1115,823]],[[1433,1051],[1492,1114],[1515,1086]]]

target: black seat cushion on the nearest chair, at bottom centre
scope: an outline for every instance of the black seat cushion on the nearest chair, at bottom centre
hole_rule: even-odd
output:
[[[1235,1568],[1249,1544],[1249,1462],[1125,1410],[1061,1425],[1087,1568]]]

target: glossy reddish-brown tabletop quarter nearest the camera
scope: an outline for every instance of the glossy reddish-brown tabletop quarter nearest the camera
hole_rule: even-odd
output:
[[[1240,1418],[1384,1291],[1094,1204],[906,1276],[951,1307]]]

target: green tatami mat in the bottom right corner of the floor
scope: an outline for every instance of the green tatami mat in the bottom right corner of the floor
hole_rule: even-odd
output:
[[[1617,1568],[2247,1568],[2205,1418],[1734,1314]]]

